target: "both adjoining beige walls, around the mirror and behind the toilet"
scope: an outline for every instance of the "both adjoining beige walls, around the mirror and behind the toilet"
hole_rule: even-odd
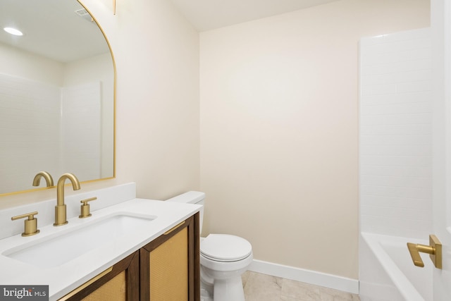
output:
[[[168,0],[117,1],[116,16],[109,0],[82,2],[118,72],[117,178],[82,190],[201,189],[206,231],[242,235],[256,259],[357,278],[357,41],[428,26],[428,1],[344,0],[202,33],[200,164],[197,32]]]

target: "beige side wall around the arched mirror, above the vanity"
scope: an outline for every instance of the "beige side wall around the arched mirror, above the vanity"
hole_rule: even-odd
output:
[[[117,68],[117,177],[82,191],[131,181],[138,197],[198,190],[199,34],[171,1],[117,2],[113,16],[112,1],[82,1],[109,37]],[[0,208],[50,197],[55,189],[3,196]]]

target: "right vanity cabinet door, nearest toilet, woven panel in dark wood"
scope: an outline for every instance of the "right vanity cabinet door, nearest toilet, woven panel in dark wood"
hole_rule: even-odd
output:
[[[198,301],[199,214],[140,250],[141,300]]]

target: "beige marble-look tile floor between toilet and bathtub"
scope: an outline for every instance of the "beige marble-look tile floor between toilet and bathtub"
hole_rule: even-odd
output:
[[[246,301],[360,301],[358,295],[247,271],[242,276]]]

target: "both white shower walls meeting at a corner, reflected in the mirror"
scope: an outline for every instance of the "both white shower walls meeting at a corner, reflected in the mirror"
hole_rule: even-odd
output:
[[[0,74],[1,193],[24,190],[24,185],[31,189],[39,171],[48,171],[54,180],[65,172],[83,180],[99,178],[100,97],[99,83],[61,89]],[[70,105],[61,106],[66,101]],[[89,145],[80,143],[86,136]],[[73,164],[62,166],[68,157]]]

